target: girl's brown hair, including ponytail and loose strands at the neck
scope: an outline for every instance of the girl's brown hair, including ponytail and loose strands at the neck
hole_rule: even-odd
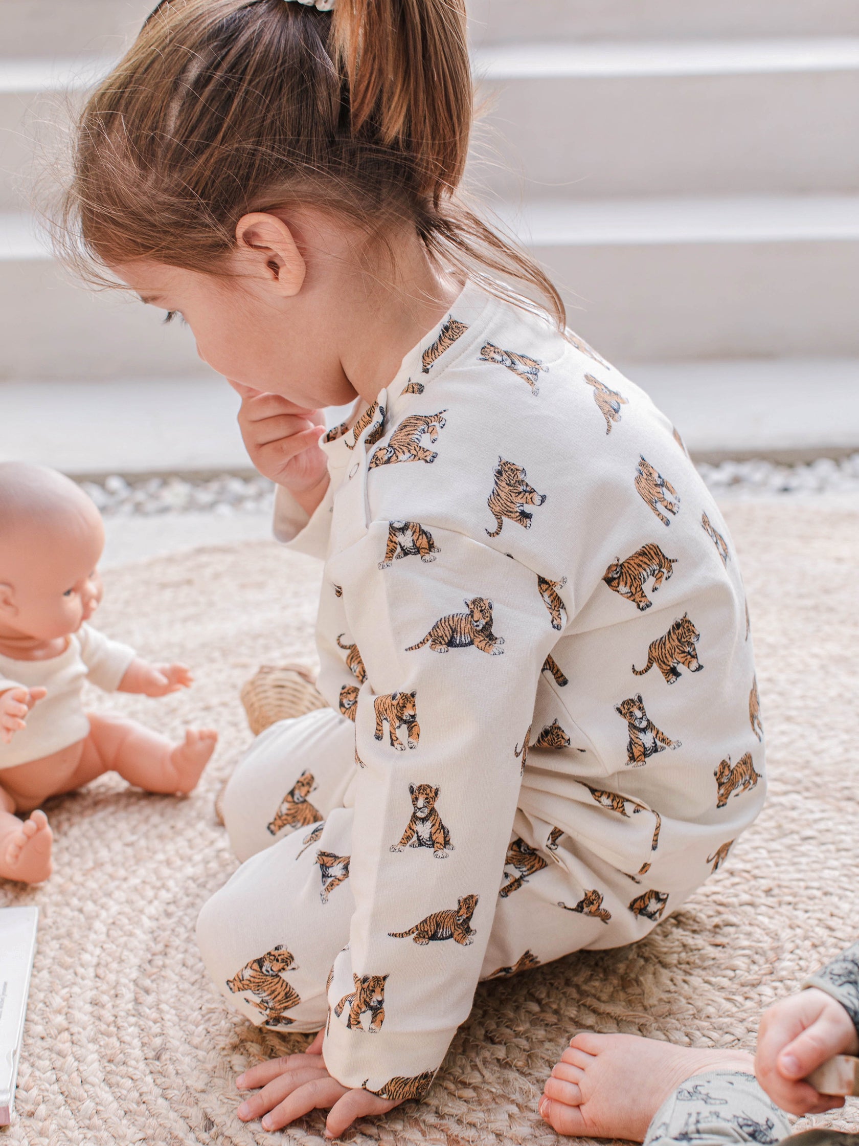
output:
[[[562,330],[551,281],[458,190],[472,118],[464,0],[163,0],[84,109],[60,246],[90,281],[135,259],[218,273],[243,214],[313,204],[377,238],[409,222]]]

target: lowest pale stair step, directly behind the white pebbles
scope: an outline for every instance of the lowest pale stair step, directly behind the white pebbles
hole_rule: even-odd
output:
[[[859,359],[618,366],[698,460],[794,461],[859,449]],[[247,471],[237,405],[221,379],[0,383],[0,462],[79,477]]]

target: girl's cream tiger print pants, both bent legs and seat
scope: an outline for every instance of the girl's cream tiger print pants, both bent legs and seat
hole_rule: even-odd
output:
[[[313,788],[290,809],[298,823],[281,826],[284,794],[308,772]],[[266,729],[226,788],[224,824],[242,864],[203,906],[197,940],[218,989],[258,1026],[315,1031],[325,1023],[329,971],[349,941],[354,912],[348,859],[360,830],[352,807],[357,775],[354,724],[321,708]],[[520,808],[511,840],[529,845],[525,859],[538,866],[507,865],[481,979],[636,942],[659,921],[628,910],[640,888],[593,853],[538,851],[544,829],[534,823]],[[700,884],[696,873],[691,880],[681,887],[661,877],[660,886],[679,904]],[[583,909],[594,887],[605,898]]]

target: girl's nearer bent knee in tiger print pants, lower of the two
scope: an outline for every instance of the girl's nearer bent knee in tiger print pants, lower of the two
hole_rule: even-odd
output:
[[[277,840],[243,863],[199,913],[206,970],[255,1026],[316,1031],[325,1022],[328,974],[348,942],[355,903],[348,878],[323,900],[316,853],[348,862],[352,821],[350,808],[334,808],[313,846],[298,832]]]

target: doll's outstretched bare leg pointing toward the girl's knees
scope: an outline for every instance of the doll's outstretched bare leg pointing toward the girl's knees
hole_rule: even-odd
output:
[[[66,791],[115,771],[147,792],[190,792],[216,740],[218,733],[212,729],[188,729],[184,741],[174,744],[136,721],[90,713],[89,736]]]

